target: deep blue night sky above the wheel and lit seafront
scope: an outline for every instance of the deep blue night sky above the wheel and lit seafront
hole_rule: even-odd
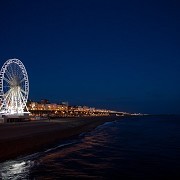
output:
[[[32,100],[180,113],[179,0],[0,0],[0,66]]]

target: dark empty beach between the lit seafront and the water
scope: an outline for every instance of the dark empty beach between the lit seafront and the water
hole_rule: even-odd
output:
[[[0,125],[0,163],[47,149],[122,117],[61,118]]]

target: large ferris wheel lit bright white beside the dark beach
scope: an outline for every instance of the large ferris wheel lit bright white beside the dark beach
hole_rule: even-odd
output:
[[[29,80],[26,68],[19,59],[7,60],[0,71],[0,111],[21,114],[27,110]]]

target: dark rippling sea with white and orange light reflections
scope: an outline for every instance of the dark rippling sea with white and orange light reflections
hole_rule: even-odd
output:
[[[116,118],[49,149],[1,163],[0,179],[179,180],[180,116]]]

